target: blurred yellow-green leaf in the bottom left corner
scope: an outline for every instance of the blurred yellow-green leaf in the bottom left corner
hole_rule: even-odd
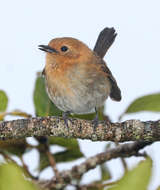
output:
[[[20,167],[15,164],[0,166],[0,190],[38,190],[29,180],[24,178]]]

